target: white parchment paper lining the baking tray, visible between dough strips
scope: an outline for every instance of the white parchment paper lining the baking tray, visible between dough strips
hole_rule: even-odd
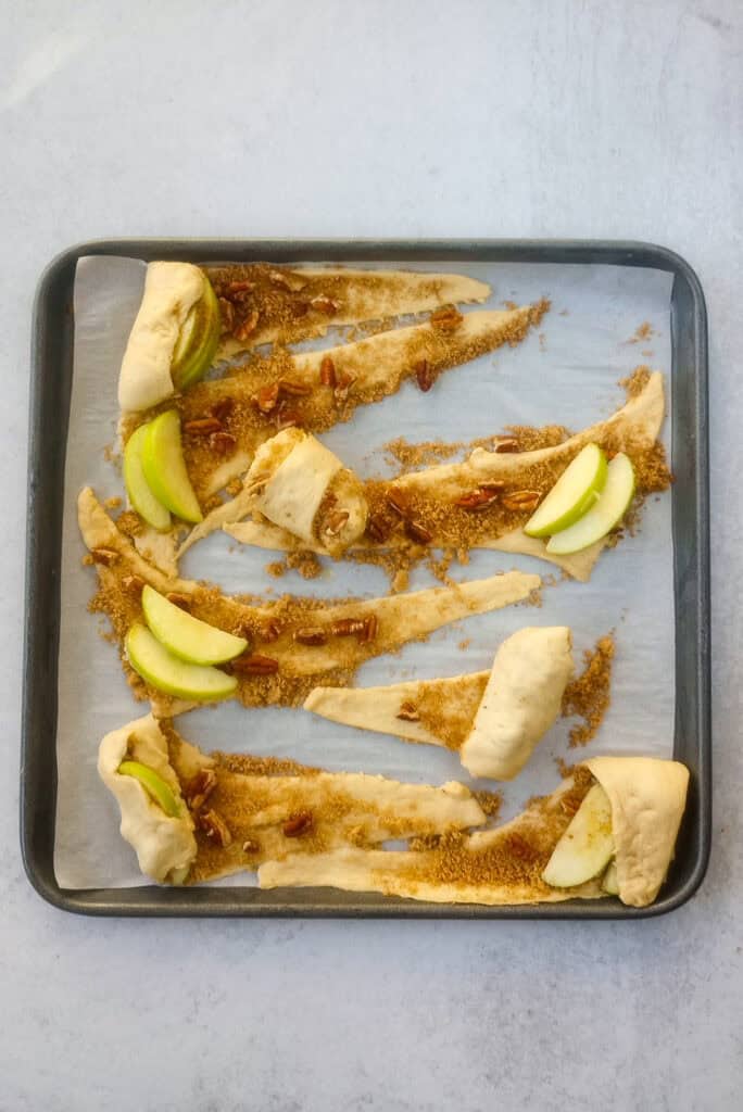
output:
[[[359,264],[368,266],[368,264]],[[387,261],[385,267],[394,266]],[[666,375],[670,386],[670,301],[672,277],[663,271],[607,266],[498,264],[420,264],[420,270],[457,270],[487,281],[487,307],[552,298],[541,331],[511,349],[501,349],[448,371],[422,395],[408,383],[379,405],[356,410],[354,420],[324,436],[328,446],[361,476],[386,474],[383,445],[394,437],[464,440],[493,436],[509,424],[563,424],[571,429],[608,416],[624,401],[618,387],[641,363]],[[85,548],[77,525],[76,499],[85,485],[101,499],[123,495],[110,449],[116,445],[116,387],[129,329],[136,316],[145,264],[95,257],[78,266],[75,288],[75,378],[65,476],[61,580],[59,785],[55,868],[62,887],[113,887],[147,883],[131,848],[119,835],[118,808],[96,772],[100,738],[109,729],[147,712],[127,686],[115,648],[100,636],[105,623],[87,612],[95,573],[81,564]],[[479,307],[478,307],[479,308]],[[647,321],[652,335],[633,337]],[[319,346],[330,346],[330,334]],[[666,391],[670,401],[670,389]],[[668,417],[664,428],[667,439]],[[280,580],[265,566],[274,554],[237,545],[216,534],[196,545],[182,574],[209,578],[225,590],[313,594],[385,594],[388,583],[375,568],[328,565],[306,583],[296,573]],[[539,560],[502,553],[473,553],[467,567],[453,566],[454,578],[481,578],[519,567],[543,577],[555,569]],[[559,573],[557,570],[558,578]],[[430,585],[419,569],[410,588]],[[518,778],[504,787],[503,816],[559,780],[555,758],[615,752],[670,756],[673,746],[674,613],[671,499],[651,499],[637,536],[627,537],[601,557],[591,583],[558,582],[546,587],[541,608],[517,606],[457,623],[426,644],[366,664],[357,683],[457,675],[488,668],[501,641],[524,625],[569,625],[576,666],[583,651],[615,632],[612,706],[587,751],[569,749],[571,722],[561,719]],[[458,647],[469,642],[466,651]],[[398,780],[439,784],[469,782],[455,754],[409,745],[383,734],[350,729],[304,711],[245,711],[236,703],[184,715],[179,731],[204,749],[220,748],[291,756],[329,770],[383,773]],[[53,744],[52,738],[49,744]],[[488,784],[486,786],[496,786]],[[249,874],[226,883],[249,884]]]

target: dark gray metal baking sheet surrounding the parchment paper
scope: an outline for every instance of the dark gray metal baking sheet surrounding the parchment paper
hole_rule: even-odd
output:
[[[189,258],[194,261],[433,260],[467,264],[608,264],[647,267],[672,276],[671,451],[675,595],[674,755],[692,771],[692,791],[676,862],[650,909],[617,901],[573,901],[534,907],[426,905],[353,893],[255,887],[168,890],[153,886],[70,891],[53,871],[56,746],[60,614],[61,493],[72,381],[71,299],[77,260],[107,255]],[[546,270],[545,270],[546,272]],[[706,324],[699,282],[686,264],[662,248],[634,244],[539,242],[232,242],[121,241],[80,245],[55,260],[39,287],[31,400],[29,574],[22,840],[27,871],[48,900],[99,914],[336,914],[452,917],[637,917],[678,906],[704,875],[710,830],[709,587],[706,524]],[[664,368],[667,369],[667,368]],[[61,419],[60,419],[61,418]],[[39,450],[39,455],[37,455]],[[51,697],[53,694],[53,698]],[[60,831],[66,827],[60,826]]]

